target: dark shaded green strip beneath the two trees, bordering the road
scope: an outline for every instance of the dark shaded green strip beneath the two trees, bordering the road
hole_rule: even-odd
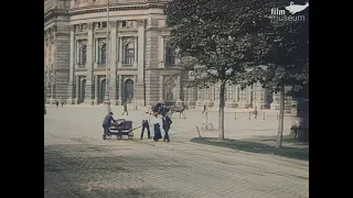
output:
[[[222,146],[228,147],[233,150],[244,151],[244,152],[252,152],[252,153],[261,153],[261,154],[272,154],[278,156],[284,156],[288,158],[296,158],[302,161],[309,161],[309,147],[281,147],[276,148],[275,146],[259,143],[259,142],[252,142],[252,141],[237,141],[237,140],[224,140],[218,141],[215,138],[194,138],[190,140],[191,142],[214,145],[214,146]]]

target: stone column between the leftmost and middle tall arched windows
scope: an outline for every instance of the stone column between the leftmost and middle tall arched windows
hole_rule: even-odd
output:
[[[86,76],[86,86],[85,86],[85,103],[93,106],[93,84],[92,84],[92,77],[93,77],[93,23],[87,24],[87,76]]]

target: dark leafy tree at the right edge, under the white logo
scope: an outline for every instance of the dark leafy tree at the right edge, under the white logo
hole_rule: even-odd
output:
[[[267,4],[268,9],[280,7],[278,2],[280,1],[271,1]],[[304,21],[275,22],[268,19],[269,23],[263,26],[261,34],[266,45],[258,59],[258,64],[267,67],[250,67],[248,73],[237,77],[242,78],[244,86],[260,81],[263,87],[280,92],[277,147],[282,146],[285,96],[291,96],[301,102],[309,99],[309,9],[300,12],[300,15],[304,15]],[[285,86],[290,89],[285,91]]]

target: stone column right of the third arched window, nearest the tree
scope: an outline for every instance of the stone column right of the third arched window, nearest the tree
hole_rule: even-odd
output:
[[[137,81],[136,81],[136,102],[138,105],[145,106],[145,26],[146,21],[139,20],[137,21],[138,26],[138,43],[136,45],[137,47]]]

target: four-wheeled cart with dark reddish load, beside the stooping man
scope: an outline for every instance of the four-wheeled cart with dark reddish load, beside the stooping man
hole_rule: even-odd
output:
[[[110,139],[111,135],[116,135],[118,140],[121,140],[124,136],[128,136],[129,140],[133,139],[133,129],[132,121],[127,121],[125,119],[119,119],[117,122],[111,123],[107,139]]]

